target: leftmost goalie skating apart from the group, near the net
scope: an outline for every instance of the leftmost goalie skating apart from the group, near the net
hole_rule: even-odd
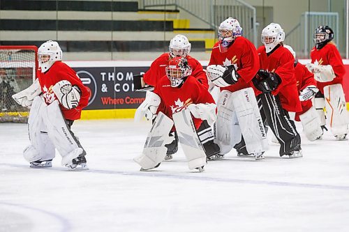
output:
[[[87,106],[89,93],[75,71],[61,59],[58,43],[44,42],[38,49],[38,78],[29,88],[13,95],[18,104],[31,108],[28,119],[31,145],[23,155],[30,167],[52,167],[57,148],[62,165],[70,170],[88,169],[86,152],[70,127]]]

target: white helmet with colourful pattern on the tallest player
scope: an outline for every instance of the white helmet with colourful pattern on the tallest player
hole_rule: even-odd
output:
[[[235,38],[242,36],[242,27],[239,21],[228,17],[218,26],[218,39],[220,51],[227,52],[228,47],[232,44]]]

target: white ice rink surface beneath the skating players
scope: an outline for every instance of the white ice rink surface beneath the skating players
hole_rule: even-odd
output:
[[[304,157],[237,157],[188,169],[181,148],[139,171],[148,122],[76,121],[89,171],[30,169],[27,125],[0,124],[0,231],[349,231],[349,142],[302,135]],[[301,129],[299,129],[301,130]]]

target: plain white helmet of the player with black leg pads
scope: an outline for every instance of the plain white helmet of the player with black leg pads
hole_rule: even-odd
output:
[[[263,29],[261,39],[267,53],[269,53],[272,52],[272,49],[274,49],[276,45],[279,45],[280,42],[285,40],[285,32],[283,32],[279,24],[272,22]]]

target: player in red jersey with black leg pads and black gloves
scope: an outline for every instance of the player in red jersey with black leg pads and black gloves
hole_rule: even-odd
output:
[[[302,105],[293,77],[295,58],[283,47],[284,39],[285,33],[279,24],[269,24],[262,30],[264,45],[257,49],[260,70],[253,84],[260,91],[262,113],[281,144],[280,156],[299,157],[302,156],[301,139],[288,112],[302,111]]]

